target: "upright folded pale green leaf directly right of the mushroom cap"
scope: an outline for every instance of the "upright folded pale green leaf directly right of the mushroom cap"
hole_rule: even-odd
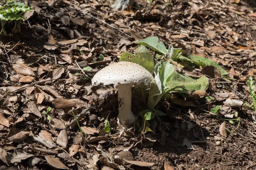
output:
[[[152,109],[157,105],[162,96],[171,88],[166,86],[174,72],[173,65],[169,62],[158,62],[154,68],[155,82],[149,91],[148,108]]]

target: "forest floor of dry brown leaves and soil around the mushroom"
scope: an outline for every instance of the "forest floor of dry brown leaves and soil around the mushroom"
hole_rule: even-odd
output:
[[[228,99],[251,104],[247,80],[256,76],[253,1],[152,0],[145,6],[139,0],[126,11],[101,0],[27,3],[33,10],[26,12],[20,32],[13,34],[7,24],[8,34],[0,34],[0,169],[256,169],[254,113],[245,105],[225,104]],[[91,78],[118,62],[122,52],[134,51],[136,40],[153,36],[166,46],[216,61],[229,79],[212,70],[205,73],[213,75],[206,95],[186,101],[177,95],[179,102],[158,103],[156,108],[167,116],[151,122],[154,133],[145,136],[141,148],[137,128],[121,135],[116,130],[117,91],[92,87]],[[78,65],[91,69],[81,71]],[[178,67],[189,76],[202,75],[201,67]],[[146,105],[137,91],[132,96],[138,115]],[[205,96],[214,98],[207,101]],[[217,105],[222,116],[210,112]],[[82,113],[79,125],[86,137],[71,110]],[[236,112],[241,122],[226,121],[227,129],[234,130],[227,133],[223,118],[235,119]]]

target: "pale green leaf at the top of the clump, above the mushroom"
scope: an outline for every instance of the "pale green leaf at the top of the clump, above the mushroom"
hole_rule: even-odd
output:
[[[163,42],[159,42],[158,37],[147,37],[143,40],[139,40],[136,44],[145,45],[153,51],[157,51],[161,54],[167,54],[167,50]]]

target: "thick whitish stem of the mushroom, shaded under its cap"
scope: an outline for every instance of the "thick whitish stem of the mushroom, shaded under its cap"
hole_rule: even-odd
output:
[[[130,126],[135,122],[135,116],[131,112],[131,85],[116,85],[118,89],[119,114],[117,116],[118,124],[120,122],[125,126]]]

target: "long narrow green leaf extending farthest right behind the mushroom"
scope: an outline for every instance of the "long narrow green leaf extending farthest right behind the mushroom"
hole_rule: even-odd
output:
[[[223,68],[221,68],[221,66],[219,66],[217,62],[215,62],[211,59],[207,59],[205,57],[199,57],[199,56],[194,56],[194,55],[188,55],[188,56],[181,55],[178,60],[191,62],[191,63],[194,63],[195,65],[201,65],[202,67],[205,67],[207,65],[213,65],[218,68],[218,70],[221,72],[221,75],[223,75],[223,76],[228,75],[227,71],[225,71]]]

